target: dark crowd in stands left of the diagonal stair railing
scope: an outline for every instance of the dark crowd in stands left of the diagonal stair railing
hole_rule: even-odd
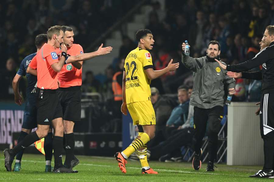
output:
[[[101,32],[106,31],[136,2],[136,0],[0,1],[2,65],[12,59],[13,69],[18,69],[23,58],[36,51],[35,36],[46,33],[47,29],[53,25],[73,27],[77,43],[85,50],[100,36]],[[121,9],[123,11],[120,11]],[[0,74],[4,89],[1,90],[0,99],[13,98],[10,86],[15,73],[15,70],[12,72],[9,68],[2,66]],[[22,79],[21,82],[24,80]]]

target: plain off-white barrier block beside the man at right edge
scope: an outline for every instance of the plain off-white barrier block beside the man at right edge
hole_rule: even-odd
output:
[[[262,165],[263,140],[255,103],[232,102],[228,106],[227,165]]]

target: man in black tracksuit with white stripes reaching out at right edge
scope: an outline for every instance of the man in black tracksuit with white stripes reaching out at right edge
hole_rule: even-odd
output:
[[[273,159],[274,159],[274,26],[266,27],[262,41],[266,42],[265,47],[253,59],[236,65],[223,65],[215,59],[220,67],[227,71],[242,72],[248,71],[259,65],[262,70],[256,72],[242,72],[242,78],[262,79],[262,95],[260,105],[260,130],[264,140],[265,163],[262,170],[250,177],[274,178]]]

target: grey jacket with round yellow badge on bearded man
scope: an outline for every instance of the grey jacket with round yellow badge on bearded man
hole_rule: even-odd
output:
[[[202,109],[223,106],[224,84],[228,84],[228,89],[235,88],[235,79],[227,76],[227,71],[208,56],[192,58],[183,53],[182,62],[193,71],[193,90],[189,104]]]

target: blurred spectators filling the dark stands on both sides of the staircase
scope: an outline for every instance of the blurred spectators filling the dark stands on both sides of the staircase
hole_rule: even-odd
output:
[[[114,0],[1,1],[0,52],[3,66],[0,80],[3,86],[0,99],[13,99],[12,78],[16,74],[20,61],[35,52],[33,40],[37,34],[46,33],[52,25],[67,25],[66,22],[69,20],[71,22],[69,26],[74,28],[77,43],[85,50],[101,32],[106,31],[115,21],[125,15],[124,10],[129,10],[135,2],[121,3]],[[251,59],[259,52],[258,43],[262,39],[265,27],[274,24],[274,2],[267,0],[188,0],[183,2],[168,0],[165,1],[165,8],[161,8],[161,4],[157,1],[147,3],[151,5],[152,11],[146,13],[145,28],[152,31],[155,39],[155,46],[151,51],[154,69],[160,70],[166,67],[171,58],[174,62],[180,62],[180,67],[176,72],[169,72],[151,83],[151,87],[156,87],[156,91],[152,90],[152,95],[157,95],[153,103],[157,118],[156,132],[160,131],[158,137],[167,139],[168,136],[163,131],[166,127],[175,126],[175,121],[169,124],[169,122],[172,123],[170,118],[172,113],[176,112],[176,108],[181,109],[182,105],[181,102],[178,105],[177,100],[167,94],[176,94],[177,88],[181,85],[184,85],[185,89],[193,85],[192,72],[181,63],[182,42],[188,40],[192,57],[205,56],[205,48],[209,41],[217,40],[221,45],[220,58],[223,62],[237,64]],[[98,92],[103,95],[108,108],[105,111],[108,116],[107,121],[109,118],[121,118],[120,114],[115,114],[119,113],[121,100],[114,102],[113,76],[121,71],[121,61],[137,45],[135,40],[131,40],[126,35],[122,36],[122,42],[119,56],[115,58],[117,63],[111,63],[107,67],[103,78],[93,75],[90,70],[85,73],[85,79],[83,79],[83,92]],[[120,77],[117,76],[117,81]],[[22,79],[19,88],[24,95],[23,81]],[[232,101],[257,102],[260,99],[261,87],[260,80],[237,79],[236,94]],[[176,123],[177,128],[186,122],[185,119],[188,116],[183,118],[184,120],[182,120],[182,114],[180,118],[177,118],[181,121]],[[111,131],[107,122],[105,125],[103,122],[100,128],[102,131]],[[189,127],[181,127],[181,129],[185,128]],[[188,133],[192,133],[192,130]],[[176,133],[172,135],[177,136]],[[157,137],[155,138],[157,140]]]

